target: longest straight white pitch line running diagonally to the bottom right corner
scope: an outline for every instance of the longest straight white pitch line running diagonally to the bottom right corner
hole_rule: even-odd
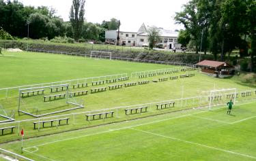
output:
[[[216,150],[218,150],[218,151],[225,151],[225,152],[227,152],[227,153],[237,154],[237,155],[239,155],[239,156],[245,156],[245,157],[247,157],[247,158],[256,159],[256,157],[254,157],[254,156],[248,156],[248,155],[246,155],[246,154],[240,154],[240,153],[237,153],[237,152],[234,152],[234,151],[229,151],[229,150],[225,150],[225,149],[219,149],[219,148],[217,148],[217,147],[210,147],[210,146],[208,146],[208,145],[203,145],[203,144],[201,144],[201,143],[195,143],[195,142],[192,142],[192,141],[185,141],[185,140],[177,139],[177,138],[174,138],[174,137],[167,137],[167,136],[165,136],[165,135],[159,135],[159,134],[156,134],[156,133],[153,133],[153,132],[148,132],[148,131],[144,131],[144,130],[138,130],[138,129],[136,129],[136,128],[130,128],[130,129],[132,129],[132,130],[137,130],[137,131],[140,131],[140,132],[144,132],[144,133],[147,133],[147,134],[150,134],[150,135],[156,135],[156,136],[158,136],[158,137],[165,137],[165,138],[167,138],[167,139],[172,139],[172,140],[175,140],[175,141],[182,141],[182,142],[184,142],[184,143],[190,143],[190,144],[194,144],[194,145],[200,145],[200,146],[202,146],[202,147],[208,147],[208,148],[210,148],[210,149],[216,149]]]

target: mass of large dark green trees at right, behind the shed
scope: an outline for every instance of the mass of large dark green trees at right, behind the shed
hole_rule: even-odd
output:
[[[190,0],[175,22],[183,24],[178,42],[199,51],[211,52],[221,60],[234,49],[240,57],[251,56],[251,70],[256,63],[255,0]]]

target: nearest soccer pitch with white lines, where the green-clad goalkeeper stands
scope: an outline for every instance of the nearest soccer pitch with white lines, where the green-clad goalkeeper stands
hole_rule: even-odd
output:
[[[190,109],[24,141],[34,160],[256,160],[256,103]],[[20,154],[20,141],[2,146]]]

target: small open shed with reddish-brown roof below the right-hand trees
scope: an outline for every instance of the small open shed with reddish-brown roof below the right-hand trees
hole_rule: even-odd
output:
[[[198,62],[197,66],[201,67],[201,71],[205,73],[216,75],[233,75],[234,73],[234,67],[227,62],[203,60]]]

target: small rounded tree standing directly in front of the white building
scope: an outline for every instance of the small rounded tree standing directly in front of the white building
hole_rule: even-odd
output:
[[[159,29],[156,26],[152,26],[148,29],[147,33],[148,41],[150,42],[149,47],[153,49],[155,44],[160,41]]]

